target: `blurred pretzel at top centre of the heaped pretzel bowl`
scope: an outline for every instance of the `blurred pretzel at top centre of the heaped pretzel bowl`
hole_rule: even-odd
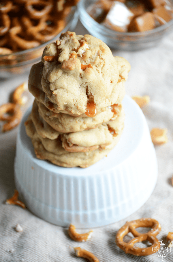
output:
[[[33,8],[33,5],[44,6],[41,10],[36,10]],[[47,15],[53,8],[52,1],[44,0],[28,0],[25,4],[25,8],[32,19],[39,19]]]

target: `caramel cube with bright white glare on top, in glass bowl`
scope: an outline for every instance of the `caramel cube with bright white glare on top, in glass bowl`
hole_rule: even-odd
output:
[[[112,6],[103,21],[103,25],[119,32],[126,32],[134,14],[127,8],[124,3],[112,1]]]

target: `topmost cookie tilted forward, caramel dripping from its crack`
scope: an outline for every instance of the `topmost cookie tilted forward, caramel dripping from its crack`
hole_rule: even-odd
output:
[[[118,63],[109,47],[93,36],[61,34],[60,41],[46,46],[42,62],[42,88],[58,110],[81,115],[87,104],[97,108],[113,91],[116,93]],[[117,88],[119,96],[121,90]]]

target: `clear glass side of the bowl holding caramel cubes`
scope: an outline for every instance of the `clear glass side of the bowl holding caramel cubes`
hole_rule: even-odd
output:
[[[145,32],[116,32],[97,23],[88,13],[87,8],[97,0],[80,0],[78,3],[81,23],[89,33],[114,49],[135,51],[157,45],[161,39],[173,30],[173,19],[155,29]]]

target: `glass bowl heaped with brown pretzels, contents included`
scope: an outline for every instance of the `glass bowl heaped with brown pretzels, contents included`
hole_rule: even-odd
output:
[[[0,2],[0,78],[29,72],[44,47],[72,31],[78,0],[14,0]]]

